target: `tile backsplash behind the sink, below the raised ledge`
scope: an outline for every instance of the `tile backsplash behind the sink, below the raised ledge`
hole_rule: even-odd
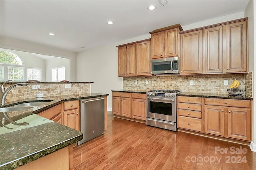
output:
[[[56,83],[39,83],[41,89],[32,89],[32,85],[36,83],[28,84],[28,86],[17,86],[13,88],[6,97],[6,102],[13,102],[16,100],[22,100],[26,98],[35,98],[36,94],[43,92],[45,97],[60,96],[66,94],[84,94],[90,93],[90,83],[71,83],[71,88],[65,88],[65,84]],[[4,87],[7,89],[13,84],[6,84]]]

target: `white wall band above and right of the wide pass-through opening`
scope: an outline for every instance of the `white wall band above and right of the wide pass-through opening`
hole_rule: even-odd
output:
[[[36,44],[20,39],[0,37],[0,48],[63,57],[70,59],[70,81],[76,81],[76,54],[42,44]]]

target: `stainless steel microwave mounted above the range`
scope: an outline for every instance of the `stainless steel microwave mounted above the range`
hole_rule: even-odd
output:
[[[180,57],[151,60],[151,74],[179,74]]]

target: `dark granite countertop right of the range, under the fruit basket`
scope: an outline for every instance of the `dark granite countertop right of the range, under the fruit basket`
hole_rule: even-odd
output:
[[[193,92],[181,92],[177,96],[190,96],[190,97],[200,97],[200,98],[221,98],[221,99],[239,99],[239,100],[252,100],[252,98],[242,95],[242,96],[232,96],[229,94],[214,94],[214,93],[193,93]]]

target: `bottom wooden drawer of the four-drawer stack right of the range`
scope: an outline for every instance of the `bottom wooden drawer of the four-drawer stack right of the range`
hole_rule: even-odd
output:
[[[178,128],[202,132],[202,119],[178,116]]]

